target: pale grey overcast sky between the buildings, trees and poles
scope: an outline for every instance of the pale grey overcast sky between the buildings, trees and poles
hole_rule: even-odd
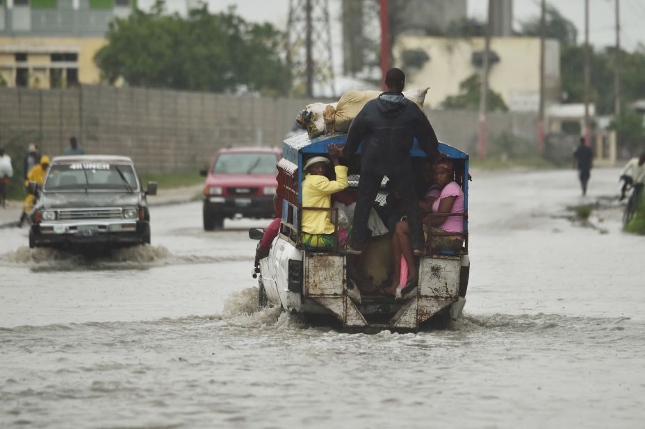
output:
[[[338,15],[342,0],[329,0],[332,18]],[[347,0],[352,1],[352,0]],[[450,0],[445,0],[450,1]],[[589,0],[589,39],[595,47],[615,44],[614,2],[616,0]],[[140,0],[142,8],[149,8],[154,0]],[[548,0],[562,15],[571,20],[578,28],[578,42],[585,38],[585,0]],[[170,10],[186,11],[186,0],[167,0]],[[468,0],[468,15],[484,19],[488,0]],[[621,4],[621,44],[623,49],[633,51],[639,42],[645,44],[645,1],[620,0]],[[213,12],[236,6],[239,15],[248,21],[272,22],[281,29],[286,28],[288,0],[209,0]],[[514,28],[521,22],[539,15],[539,0],[514,0]],[[339,33],[336,33],[339,34]]]

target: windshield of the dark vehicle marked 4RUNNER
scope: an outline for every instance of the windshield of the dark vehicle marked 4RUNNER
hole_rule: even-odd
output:
[[[121,170],[123,178],[118,170]],[[107,162],[58,164],[50,167],[47,181],[44,183],[45,191],[99,189],[136,190],[137,180],[134,169],[131,165]]]

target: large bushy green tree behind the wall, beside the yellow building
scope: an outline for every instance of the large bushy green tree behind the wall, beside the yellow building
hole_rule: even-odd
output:
[[[136,10],[115,19],[95,61],[104,79],[176,90],[285,94],[291,76],[281,58],[284,35],[271,24],[252,24],[234,9],[211,14],[206,5],[188,18]]]

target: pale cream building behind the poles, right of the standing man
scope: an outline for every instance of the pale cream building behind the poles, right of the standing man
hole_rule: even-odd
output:
[[[395,65],[406,73],[406,87],[430,87],[425,106],[441,108],[459,84],[482,72],[485,40],[453,37],[399,37],[393,47]],[[560,99],[560,44],[545,43],[546,101]],[[538,37],[491,37],[489,87],[510,110],[537,111],[540,40]]]

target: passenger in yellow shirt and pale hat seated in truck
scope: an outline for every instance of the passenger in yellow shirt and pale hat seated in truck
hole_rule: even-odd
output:
[[[302,180],[302,244],[315,249],[334,248],[334,224],[329,210],[307,210],[307,208],[331,208],[331,195],[341,192],[348,187],[348,167],[338,162],[338,146],[327,146],[329,158],[332,158],[336,180],[325,177],[329,158],[315,156],[304,165],[304,180]],[[339,231],[340,244],[345,242],[348,233]]]

